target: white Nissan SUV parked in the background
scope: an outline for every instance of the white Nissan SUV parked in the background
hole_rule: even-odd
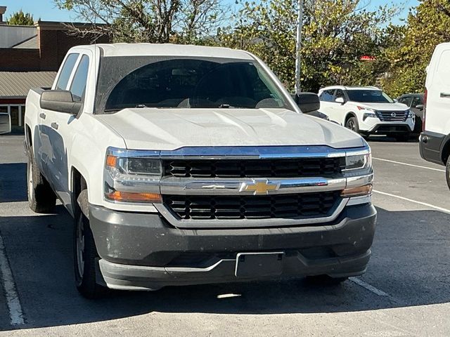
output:
[[[414,114],[375,86],[328,86],[319,91],[320,111],[331,121],[361,135],[390,135],[408,140]]]

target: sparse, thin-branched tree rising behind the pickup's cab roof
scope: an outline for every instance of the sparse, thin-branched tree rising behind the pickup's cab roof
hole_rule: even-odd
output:
[[[220,0],[54,0],[115,42],[202,43],[226,19]],[[80,34],[92,31],[79,31]]]

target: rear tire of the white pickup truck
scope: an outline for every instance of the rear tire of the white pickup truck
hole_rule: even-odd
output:
[[[56,205],[56,194],[37,168],[30,152],[27,161],[27,194],[30,209],[36,213],[51,213]]]

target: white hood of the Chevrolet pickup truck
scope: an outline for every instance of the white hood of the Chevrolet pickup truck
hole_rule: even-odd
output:
[[[329,121],[283,109],[124,109],[96,115],[128,149],[188,146],[328,145],[361,147],[356,133]]]

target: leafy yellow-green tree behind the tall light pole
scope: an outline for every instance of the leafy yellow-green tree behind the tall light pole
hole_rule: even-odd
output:
[[[302,30],[302,88],[317,91],[328,84],[369,84],[377,74],[359,58],[378,56],[378,40],[397,8],[368,11],[359,0],[305,0]],[[244,48],[269,64],[285,86],[294,88],[297,1],[243,3],[237,27],[222,31],[221,41]],[[355,76],[356,74],[359,74]],[[362,74],[365,74],[362,76]],[[374,83],[371,83],[374,84]]]

